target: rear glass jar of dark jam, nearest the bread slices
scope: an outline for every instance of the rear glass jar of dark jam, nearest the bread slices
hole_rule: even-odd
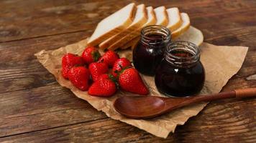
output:
[[[134,67],[142,74],[155,75],[155,69],[162,61],[169,41],[170,31],[165,26],[145,26],[132,53]]]

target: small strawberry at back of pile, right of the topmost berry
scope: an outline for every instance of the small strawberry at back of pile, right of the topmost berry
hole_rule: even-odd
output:
[[[114,65],[114,61],[119,59],[118,54],[116,54],[114,51],[106,51],[106,53],[101,56],[99,61],[103,61],[104,63],[108,64],[110,67]]]

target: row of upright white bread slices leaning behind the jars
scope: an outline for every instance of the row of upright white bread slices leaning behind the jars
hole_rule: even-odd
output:
[[[175,39],[189,29],[190,19],[176,7],[153,9],[152,6],[145,7],[145,4],[128,4],[97,25],[88,45],[109,50],[127,49],[140,40],[140,31],[149,25],[168,27],[172,39]]]

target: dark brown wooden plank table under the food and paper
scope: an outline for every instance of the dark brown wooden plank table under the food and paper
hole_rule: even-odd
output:
[[[256,99],[211,102],[161,139],[109,119],[61,87],[36,59],[90,36],[96,24],[132,1],[0,1],[0,142],[256,142]],[[140,1],[178,6],[216,45],[249,46],[224,91],[256,84],[256,1]],[[228,58],[228,57],[227,57]]]

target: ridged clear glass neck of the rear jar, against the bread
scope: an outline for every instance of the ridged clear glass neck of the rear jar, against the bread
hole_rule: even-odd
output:
[[[145,26],[141,31],[140,41],[148,46],[166,46],[170,41],[170,30],[160,25]]]

